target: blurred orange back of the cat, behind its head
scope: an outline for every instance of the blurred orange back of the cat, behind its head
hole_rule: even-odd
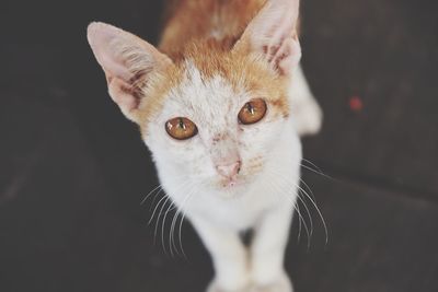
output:
[[[177,58],[192,43],[230,47],[266,0],[170,0],[159,48]]]

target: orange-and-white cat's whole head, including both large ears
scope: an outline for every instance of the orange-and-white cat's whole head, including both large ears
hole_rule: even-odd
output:
[[[289,118],[297,21],[298,1],[268,1],[232,48],[194,43],[177,59],[103,23],[90,24],[88,37],[160,176],[230,194],[256,179]]]

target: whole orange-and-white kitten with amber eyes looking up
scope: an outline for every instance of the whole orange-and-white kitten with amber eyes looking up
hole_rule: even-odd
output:
[[[292,291],[284,254],[299,135],[321,125],[299,68],[298,13],[299,0],[174,0],[159,48],[104,23],[88,28],[111,97],[211,255],[210,292]]]

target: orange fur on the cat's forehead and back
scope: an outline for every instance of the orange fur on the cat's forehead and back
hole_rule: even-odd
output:
[[[174,61],[155,74],[143,89],[141,104],[134,120],[146,133],[146,125],[163,104],[165,93],[176,87],[191,60],[206,80],[221,75],[235,87],[244,87],[270,104],[274,116],[287,117],[289,104],[286,82],[261,56],[246,49],[232,49],[247,23],[266,0],[173,0],[160,43],[160,50]],[[220,37],[212,37],[211,31]],[[241,46],[244,47],[244,46]]]

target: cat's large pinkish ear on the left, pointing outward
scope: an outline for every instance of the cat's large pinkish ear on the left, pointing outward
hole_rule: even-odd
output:
[[[111,97],[134,120],[142,87],[172,60],[141,38],[105,23],[91,23],[87,36],[105,72]]]

